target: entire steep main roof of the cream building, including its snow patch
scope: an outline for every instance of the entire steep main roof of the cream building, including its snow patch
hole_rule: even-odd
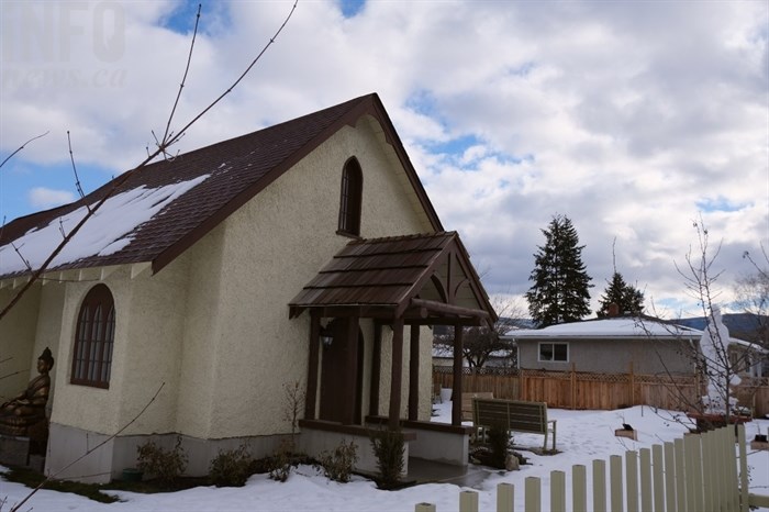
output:
[[[151,261],[153,271],[158,271],[363,115],[379,122],[430,223],[443,230],[384,107],[372,93],[146,165],[129,171],[126,175],[70,204],[19,218],[0,231],[0,279],[23,277],[40,268],[60,243],[60,231],[71,229],[86,214],[87,205],[110,193],[48,270]]]

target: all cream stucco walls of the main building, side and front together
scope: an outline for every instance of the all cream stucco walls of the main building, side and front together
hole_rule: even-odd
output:
[[[285,385],[299,381],[304,389],[310,321],[308,314],[289,320],[287,304],[349,242],[336,234],[345,162],[356,156],[363,169],[363,237],[432,231],[394,152],[381,146],[381,140],[378,124],[368,118],[356,127],[342,129],[158,274],[146,269],[136,275],[142,266],[79,272],[85,281],[60,285],[58,296],[52,294],[47,302],[32,297],[25,308],[14,310],[21,318],[13,323],[20,337],[34,336],[36,324],[35,348],[44,337],[58,334],[51,425],[51,446],[56,448],[46,460],[47,471],[59,470],[74,454],[92,446],[94,438],[126,425],[92,463],[63,477],[101,472],[94,481],[104,481],[110,471],[115,476],[120,469],[115,465],[132,460],[136,444],[149,434],[168,434],[161,436],[166,441],[180,434],[186,448],[194,452],[190,453],[191,470],[204,472],[212,456],[210,439],[220,439],[221,445],[248,438],[268,449],[274,445],[270,439],[255,439],[290,433]],[[110,288],[116,312],[109,389],[69,383],[77,314],[86,293],[99,281]],[[45,304],[46,313],[56,309],[60,313],[38,315],[38,303]],[[363,321],[361,330],[366,413],[371,322]],[[384,333],[383,412],[391,367],[391,333],[387,329]],[[408,329],[404,338],[403,415],[409,389]],[[428,420],[431,413],[430,341],[425,327],[421,420]],[[24,357],[29,361],[32,356]]]

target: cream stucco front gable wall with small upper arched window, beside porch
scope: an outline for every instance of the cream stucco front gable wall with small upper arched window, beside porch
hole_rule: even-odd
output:
[[[342,169],[350,156],[364,175],[363,237],[430,229],[376,136],[367,121],[341,130],[225,221],[211,437],[290,432],[283,386],[305,382],[310,322],[307,314],[289,321],[287,304],[349,242],[335,232]],[[370,347],[371,335],[365,337]],[[388,344],[382,347],[387,354]],[[426,343],[424,354],[428,360]],[[428,370],[424,379],[428,397]]]

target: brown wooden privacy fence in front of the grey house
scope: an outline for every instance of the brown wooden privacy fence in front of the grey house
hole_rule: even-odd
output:
[[[435,386],[452,388],[454,376],[442,369],[433,371]],[[517,370],[508,375],[462,375],[462,392],[490,391],[494,398],[546,402],[558,409],[615,410],[632,405],[650,405],[670,410],[690,410],[704,390],[695,376],[593,374],[577,371]],[[742,405],[756,415],[769,414],[769,379],[743,378],[735,392]]]

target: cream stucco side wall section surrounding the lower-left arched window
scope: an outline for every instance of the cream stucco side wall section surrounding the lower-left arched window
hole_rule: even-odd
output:
[[[124,433],[176,430],[186,259],[180,258],[156,276],[146,270],[132,277],[132,268],[122,266],[104,276],[94,275],[93,280],[65,286],[52,422],[113,434],[131,423],[163,386],[152,407]],[[86,293],[98,281],[110,289],[115,305],[109,389],[69,382],[77,315]]]

